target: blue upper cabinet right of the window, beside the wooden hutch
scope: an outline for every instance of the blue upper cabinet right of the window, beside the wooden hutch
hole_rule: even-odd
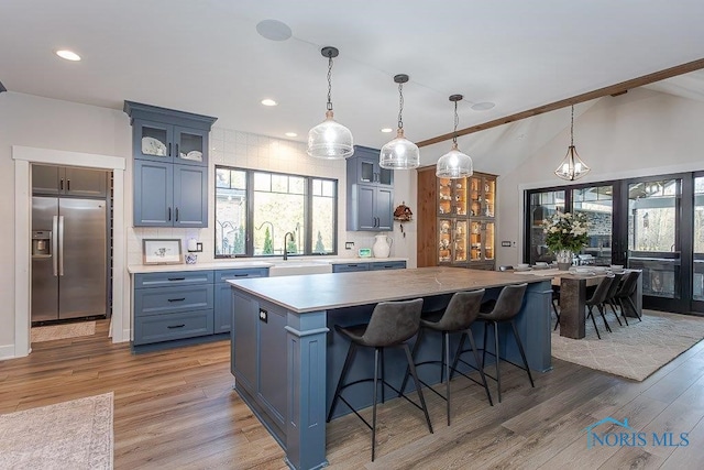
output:
[[[378,166],[378,150],[355,146],[346,162],[348,230],[391,231],[394,172]]]

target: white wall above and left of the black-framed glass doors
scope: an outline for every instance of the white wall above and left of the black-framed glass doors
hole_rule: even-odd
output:
[[[553,175],[570,129],[498,179],[497,265],[522,259],[522,197],[529,188],[562,186]],[[574,121],[574,144],[592,171],[579,183],[704,170],[704,102],[647,89],[600,99]]]

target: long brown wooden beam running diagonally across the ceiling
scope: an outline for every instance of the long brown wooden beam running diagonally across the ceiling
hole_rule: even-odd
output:
[[[641,77],[631,78],[626,81],[622,81],[615,85],[609,85],[604,88],[600,88],[593,91],[587,91],[582,95],[574,96],[572,98],[561,99],[548,105],[539,106],[527,111],[520,111],[515,114],[506,116],[504,118],[494,119],[493,121],[484,122],[482,124],[475,124],[470,128],[460,129],[457,131],[457,135],[468,135],[479,131],[485,131],[487,129],[496,128],[498,125],[508,124],[509,122],[520,121],[521,119],[531,118],[534,116],[542,114],[543,112],[554,111],[556,109],[565,108],[568,106],[576,105],[584,101],[590,101],[596,98],[605,96],[618,96],[628,91],[630,88],[641,87],[656,81],[664,80],[666,78],[675,77],[678,75],[688,74],[690,72],[700,70],[704,68],[704,58],[697,61],[688,62],[686,64],[678,65],[674,67],[666,68],[664,70],[654,72],[652,74],[644,75]],[[432,145],[438,142],[444,142],[451,140],[455,135],[454,132],[438,135],[436,138],[427,139],[425,141],[417,142],[418,146]]]

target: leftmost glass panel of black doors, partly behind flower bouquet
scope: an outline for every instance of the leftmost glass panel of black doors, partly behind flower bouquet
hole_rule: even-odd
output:
[[[556,211],[564,211],[564,190],[551,190],[530,194],[530,219],[528,220],[528,263],[538,261],[550,263],[554,254],[548,250],[546,234],[542,231],[542,221],[551,217]]]

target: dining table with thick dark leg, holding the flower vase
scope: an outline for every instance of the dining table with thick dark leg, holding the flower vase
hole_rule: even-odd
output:
[[[626,270],[627,273],[634,270]],[[638,270],[635,270],[638,271]],[[531,269],[515,271],[516,275],[536,275],[552,277],[552,285],[560,286],[560,336],[582,339],[585,336],[586,287],[595,286],[609,271],[594,270],[578,273],[557,269]],[[636,311],[626,309],[628,317],[638,317],[642,313],[642,276],[638,277],[636,292],[631,295]]]

